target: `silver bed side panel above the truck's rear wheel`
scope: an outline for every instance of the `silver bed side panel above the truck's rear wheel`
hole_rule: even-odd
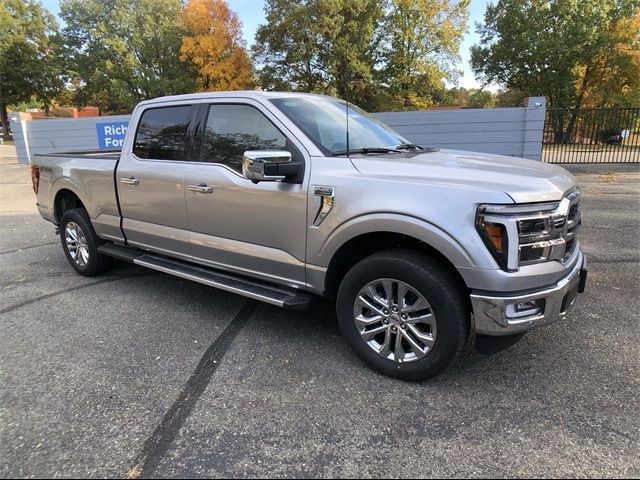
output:
[[[61,202],[80,202],[99,237],[123,240],[114,172],[119,152],[76,152],[34,155],[39,167],[38,209],[58,225]],[[77,199],[77,200],[76,200]]]

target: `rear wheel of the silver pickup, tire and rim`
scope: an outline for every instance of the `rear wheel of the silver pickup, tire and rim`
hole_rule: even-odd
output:
[[[84,208],[74,208],[62,215],[60,241],[67,260],[81,275],[99,275],[113,263],[110,257],[98,253],[98,246],[103,242],[96,235]]]

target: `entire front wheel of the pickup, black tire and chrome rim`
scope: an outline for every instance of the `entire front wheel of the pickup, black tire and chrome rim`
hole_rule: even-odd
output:
[[[460,355],[469,308],[459,280],[421,252],[388,250],[356,264],[337,298],[340,328],[372,368],[404,380],[434,377]]]

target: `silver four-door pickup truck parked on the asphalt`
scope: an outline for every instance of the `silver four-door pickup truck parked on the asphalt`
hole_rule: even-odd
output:
[[[115,258],[284,308],[329,297],[354,351],[407,380],[558,320],[586,282],[571,174],[417,146],[331,97],[145,101],[122,151],[36,155],[32,179],[80,274]]]

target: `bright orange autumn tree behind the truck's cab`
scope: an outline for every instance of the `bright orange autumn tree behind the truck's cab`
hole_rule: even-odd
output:
[[[196,72],[198,91],[253,86],[251,60],[238,16],[224,0],[189,0],[182,12],[180,59]]]

